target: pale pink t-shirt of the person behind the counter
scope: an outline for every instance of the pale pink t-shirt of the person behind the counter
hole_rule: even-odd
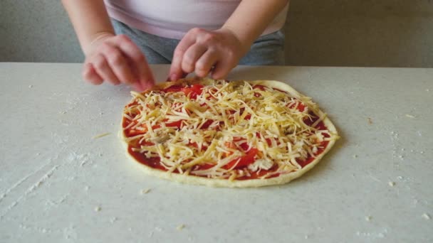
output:
[[[165,38],[181,39],[191,28],[221,28],[241,0],[105,0],[111,18]],[[262,35],[278,31],[288,5]],[[254,16],[251,16],[254,18]]]

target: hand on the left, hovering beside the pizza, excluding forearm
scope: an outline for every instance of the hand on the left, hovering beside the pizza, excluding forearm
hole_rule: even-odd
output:
[[[152,71],[140,48],[125,35],[104,33],[85,52],[83,77],[93,85],[104,81],[146,90],[155,85]]]

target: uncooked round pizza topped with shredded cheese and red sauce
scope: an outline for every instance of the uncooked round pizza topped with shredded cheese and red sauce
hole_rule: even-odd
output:
[[[122,114],[127,156],[182,183],[288,183],[338,139],[318,105],[283,82],[189,78],[131,94]]]

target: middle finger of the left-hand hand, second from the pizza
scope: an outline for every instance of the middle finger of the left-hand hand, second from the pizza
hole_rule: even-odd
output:
[[[108,43],[103,45],[101,48],[105,59],[108,61],[111,70],[118,77],[120,82],[130,84],[134,82],[134,75],[132,75],[132,71],[130,66],[128,65],[127,58],[122,54],[122,51]]]

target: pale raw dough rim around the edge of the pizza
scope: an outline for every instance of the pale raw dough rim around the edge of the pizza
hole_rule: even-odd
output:
[[[182,79],[178,80],[176,82],[163,82],[160,84],[155,85],[155,87],[152,88],[152,90],[160,90],[165,89],[167,87],[170,87],[172,85],[178,85],[183,84],[184,82],[187,82],[189,84],[195,83],[195,82],[207,82],[209,79],[199,79],[199,78],[192,78],[192,79]],[[233,80],[236,81],[236,80]],[[273,87],[277,88],[278,90],[283,90],[288,92],[289,94],[293,95],[294,97],[301,98],[304,97],[301,93],[293,89],[290,85],[286,84],[285,82],[275,81],[275,80],[254,80],[254,81],[248,81],[251,84],[254,85],[264,85],[267,87]],[[319,117],[324,116],[325,114],[319,109],[318,114]],[[123,121],[122,117],[122,121]],[[323,123],[328,128],[328,130],[333,134],[332,136],[335,136],[338,138],[338,131],[335,129],[334,124],[328,119],[328,117],[325,117],[323,119]],[[182,175],[179,173],[167,173],[166,171],[161,171],[155,168],[152,168],[150,166],[146,166],[139,161],[137,161],[133,156],[130,155],[127,151],[128,144],[125,141],[125,133],[123,132],[122,128],[122,122],[120,124],[120,133],[119,133],[120,139],[122,140],[122,144],[125,147],[126,155],[129,159],[129,161],[132,161],[136,166],[140,166],[142,171],[147,173],[147,175],[156,176],[158,178],[166,179],[166,180],[172,180],[179,183],[184,184],[190,184],[190,185],[207,185],[210,187],[226,187],[226,188],[257,188],[261,186],[266,185],[281,185],[290,182],[291,180],[294,180],[307,171],[310,171],[311,168],[313,168],[323,156],[325,156],[328,151],[330,151],[330,148],[332,148],[335,144],[335,140],[331,140],[328,143],[328,146],[325,148],[325,150],[320,153],[311,163],[308,163],[307,166],[301,168],[300,170],[296,172],[291,172],[286,175],[280,175],[278,177],[274,178],[268,178],[268,179],[253,179],[253,180],[226,180],[226,179],[214,179],[214,178],[205,178],[200,177],[196,175]]]

